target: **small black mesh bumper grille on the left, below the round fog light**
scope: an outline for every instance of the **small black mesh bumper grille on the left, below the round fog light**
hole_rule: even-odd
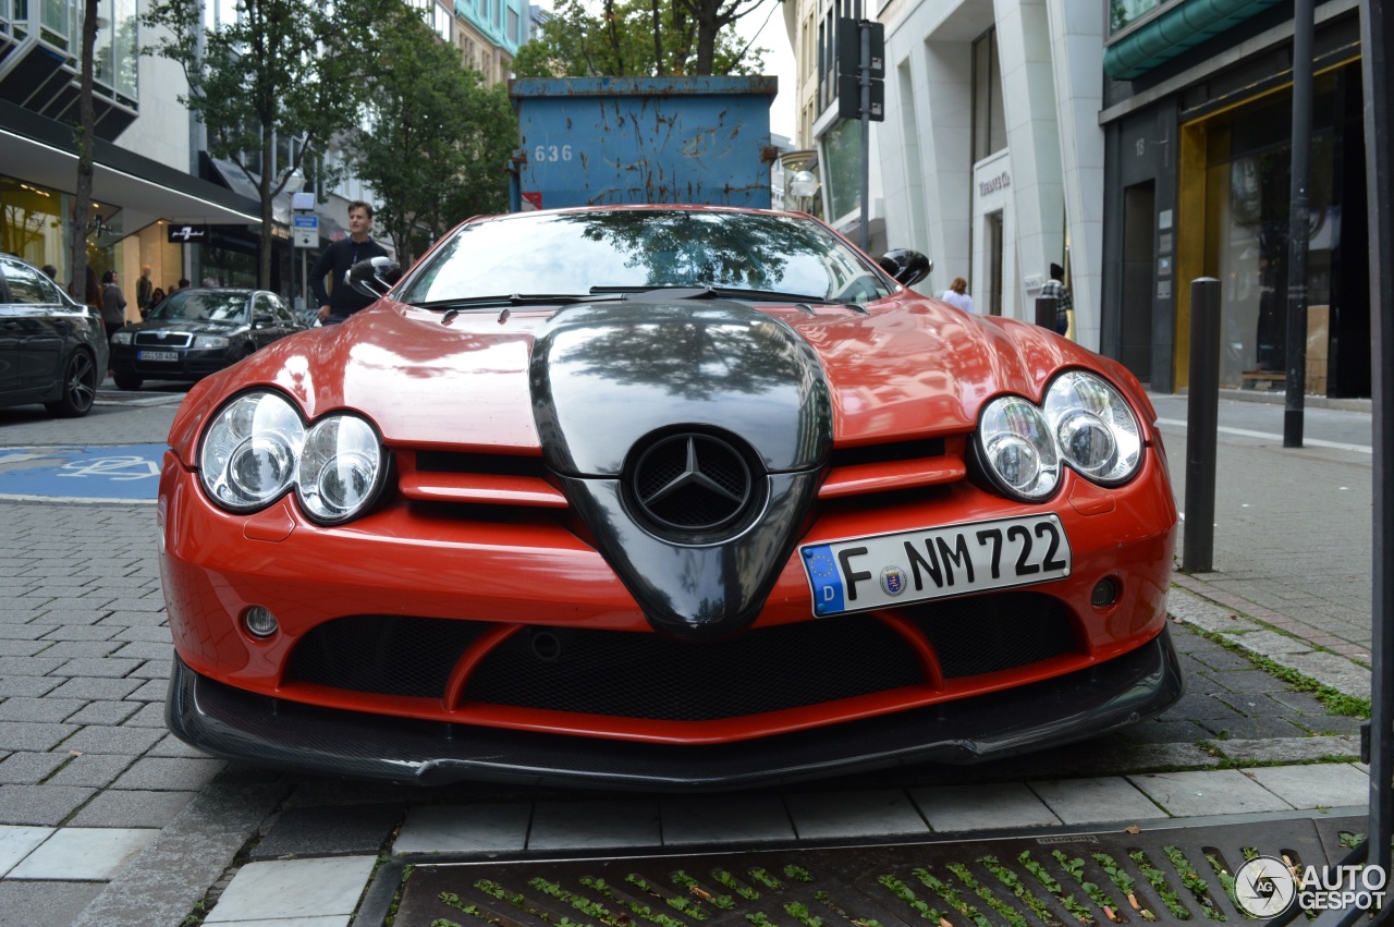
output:
[[[305,634],[286,675],[353,691],[441,698],[460,654],[488,627],[438,618],[339,618]]]

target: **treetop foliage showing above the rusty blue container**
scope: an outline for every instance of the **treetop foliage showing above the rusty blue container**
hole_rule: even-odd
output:
[[[690,14],[691,0],[668,0],[662,7],[658,0],[602,0],[599,11],[587,0],[560,0],[538,35],[519,49],[513,70],[519,77],[760,74],[764,49],[751,49],[733,24],[761,1],[769,0],[725,0],[740,11],[708,36]]]

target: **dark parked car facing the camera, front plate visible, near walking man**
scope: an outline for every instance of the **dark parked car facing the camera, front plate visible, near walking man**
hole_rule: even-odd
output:
[[[266,290],[178,290],[144,322],[112,336],[118,389],[148,379],[197,381],[305,326]]]

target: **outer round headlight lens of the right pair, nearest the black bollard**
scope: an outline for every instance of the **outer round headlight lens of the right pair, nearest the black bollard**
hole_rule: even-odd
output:
[[[1046,390],[1051,422],[1065,463],[1094,482],[1129,480],[1142,464],[1142,434],[1124,397],[1101,378],[1071,371]]]

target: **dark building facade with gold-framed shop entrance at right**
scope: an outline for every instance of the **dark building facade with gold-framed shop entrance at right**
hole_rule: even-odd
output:
[[[1294,61],[1292,4],[1271,0],[1112,4],[1105,28],[1104,353],[1186,386],[1192,283],[1214,277],[1221,386],[1284,388],[1292,72],[1309,67],[1306,392],[1369,396],[1356,0],[1316,4],[1310,63]]]

